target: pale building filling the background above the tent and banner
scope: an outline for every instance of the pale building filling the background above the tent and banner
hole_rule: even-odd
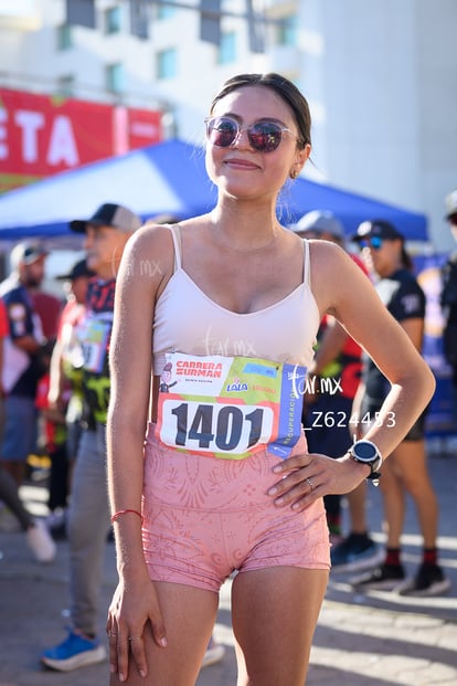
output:
[[[285,73],[311,106],[306,173],[425,212],[443,252],[456,30],[456,0],[0,0],[0,88],[160,112],[161,137],[201,143],[226,77]]]

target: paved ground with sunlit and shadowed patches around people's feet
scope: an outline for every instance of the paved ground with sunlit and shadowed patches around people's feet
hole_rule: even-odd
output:
[[[347,577],[332,573],[307,686],[457,686],[457,455],[437,452],[429,462],[442,510],[442,564],[453,580],[451,591],[428,600],[385,592],[361,595],[351,590]],[[33,485],[22,493],[36,513],[43,511],[42,487]],[[370,520],[381,542],[380,513],[379,493],[371,488]],[[413,571],[421,558],[421,539],[411,507],[404,538],[404,561]],[[66,542],[59,542],[57,559],[46,567],[31,560],[20,534],[0,532],[0,686],[107,684],[106,664],[70,674],[42,671],[39,665],[40,652],[62,640],[67,621]],[[100,631],[114,585],[114,547],[108,543]],[[202,669],[198,686],[234,686],[230,583],[223,588],[215,633],[226,653],[220,664]]]

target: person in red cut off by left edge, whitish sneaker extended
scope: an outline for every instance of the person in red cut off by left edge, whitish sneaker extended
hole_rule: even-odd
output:
[[[3,435],[4,425],[4,390],[2,384],[2,371],[4,365],[3,345],[9,335],[8,313],[3,299],[0,298],[0,440]],[[44,523],[35,519],[24,507],[19,495],[18,484],[7,469],[0,465],[0,502],[2,507],[8,507],[18,520],[20,528],[25,532],[26,542],[39,562],[52,562],[55,558],[55,543],[51,538]]]

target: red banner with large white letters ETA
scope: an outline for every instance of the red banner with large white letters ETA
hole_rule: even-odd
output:
[[[0,191],[158,143],[161,116],[0,88]]]

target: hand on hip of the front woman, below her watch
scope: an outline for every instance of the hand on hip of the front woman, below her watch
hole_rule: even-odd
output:
[[[268,489],[277,507],[289,506],[301,511],[328,494],[353,490],[368,476],[366,465],[349,455],[337,460],[319,453],[288,457],[273,468],[279,481]]]

